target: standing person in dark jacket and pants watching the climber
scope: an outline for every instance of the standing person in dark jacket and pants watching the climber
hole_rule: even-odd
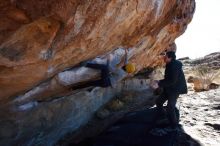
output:
[[[166,63],[165,75],[163,80],[154,81],[152,87],[154,89],[162,88],[163,92],[156,100],[156,106],[159,111],[159,115],[164,113],[163,104],[167,103],[167,116],[172,129],[176,129],[178,126],[178,120],[176,117],[175,105],[177,98],[180,94],[187,93],[187,86],[185,76],[182,70],[182,63],[176,60],[174,51],[166,52],[164,56]]]

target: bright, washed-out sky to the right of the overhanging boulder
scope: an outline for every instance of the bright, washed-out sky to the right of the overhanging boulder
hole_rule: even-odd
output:
[[[193,20],[176,44],[177,58],[220,52],[220,0],[196,0]]]

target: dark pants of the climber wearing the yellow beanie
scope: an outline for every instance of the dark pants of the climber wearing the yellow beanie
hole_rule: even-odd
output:
[[[86,88],[90,86],[98,86],[98,87],[111,86],[110,72],[108,69],[108,65],[87,63],[86,67],[101,70],[101,79],[95,80],[95,81],[89,81],[81,85],[73,86],[71,87],[71,89],[76,90],[76,89],[82,89],[82,88]]]

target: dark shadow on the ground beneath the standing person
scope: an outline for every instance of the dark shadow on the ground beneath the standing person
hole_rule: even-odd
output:
[[[178,110],[177,110],[178,111]],[[179,117],[179,112],[178,117]],[[164,117],[163,117],[164,118]],[[156,114],[156,108],[128,113],[117,123],[97,137],[88,138],[72,146],[201,146],[185,132],[181,125],[177,131],[166,131],[162,135],[152,134],[153,129],[168,127],[167,120]],[[158,124],[159,123],[159,124]]]

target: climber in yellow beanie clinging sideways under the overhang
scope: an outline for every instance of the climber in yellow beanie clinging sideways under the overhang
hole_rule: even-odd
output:
[[[72,86],[72,90],[82,89],[90,86],[98,87],[115,87],[119,81],[135,72],[135,65],[128,63],[127,49],[125,49],[124,62],[122,67],[117,67],[121,62],[121,57],[115,57],[112,54],[108,55],[106,64],[99,64],[93,62],[82,62],[81,66],[89,67],[95,70],[100,70],[100,79],[89,81],[81,85]]]

